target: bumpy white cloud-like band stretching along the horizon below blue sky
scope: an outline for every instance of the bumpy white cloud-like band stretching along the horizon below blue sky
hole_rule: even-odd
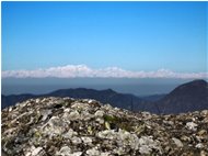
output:
[[[208,73],[177,73],[170,69],[132,71],[119,67],[91,68],[86,65],[67,65],[33,70],[3,70],[2,78],[182,78],[204,79]]]

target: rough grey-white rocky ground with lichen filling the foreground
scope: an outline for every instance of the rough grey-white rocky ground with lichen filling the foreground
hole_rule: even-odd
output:
[[[208,155],[208,110],[157,115],[50,97],[5,108],[1,118],[8,156]]]

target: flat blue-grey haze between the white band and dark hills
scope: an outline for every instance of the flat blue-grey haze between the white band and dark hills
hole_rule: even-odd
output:
[[[120,93],[138,97],[166,94],[182,83],[194,79],[173,78],[7,78],[2,79],[1,92],[4,96],[49,93],[59,89],[113,89]]]

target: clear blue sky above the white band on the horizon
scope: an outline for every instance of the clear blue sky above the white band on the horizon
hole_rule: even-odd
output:
[[[2,2],[2,70],[205,73],[207,2]]]

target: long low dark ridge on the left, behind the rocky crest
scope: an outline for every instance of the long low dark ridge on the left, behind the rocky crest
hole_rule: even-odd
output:
[[[85,88],[78,88],[78,89],[60,89],[53,91],[47,94],[12,94],[12,96],[3,96],[2,99],[2,109],[9,105],[13,105],[16,102],[22,102],[24,100],[37,97],[70,97],[70,98],[79,98],[79,99],[95,99],[101,101],[102,103],[111,103],[113,107],[118,107],[128,110],[152,110],[147,108],[145,100],[140,98],[127,94],[127,93],[118,93],[112,89],[106,90],[94,90],[94,89],[85,89]],[[151,105],[151,104],[150,104]]]

